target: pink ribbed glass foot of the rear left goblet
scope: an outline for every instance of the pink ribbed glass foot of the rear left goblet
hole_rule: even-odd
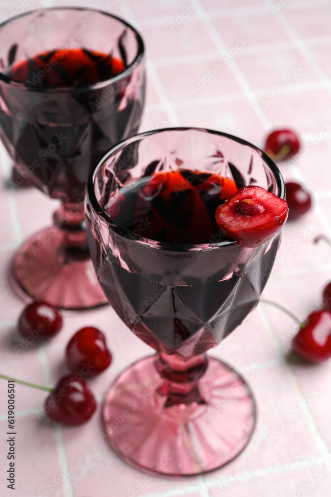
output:
[[[26,301],[45,300],[55,307],[82,310],[107,304],[87,254],[77,260],[63,246],[55,228],[36,233],[17,250],[12,261],[12,283]]]

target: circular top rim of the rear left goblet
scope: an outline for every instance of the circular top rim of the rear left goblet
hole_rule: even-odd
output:
[[[41,8],[35,8],[33,10],[28,10],[27,12],[23,12],[21,14],[15,15],[13,17],[9,17],[9,19],[6,19],[5,21],[0,23],[0,31],[1,29],[9,24],[10,22],[15,21],[16,19],[19,19],[20,17],[24,17],[26,15],[31,15],[36,12],[48,12],[51,10],[87,10],[87,11],[93,11],[93,12],[99,12],[100,14],[108,15],[109,17],[112,17],[113,19],[116,19],[119,21],[121,24],[124,24],[125,26],[129,27],[132,32],[134,33],[136,40],[137,40],[137,54],[135,58],[133,59],[132,63],[121,73],[119,73],[116,76],[113,76],[112,78],[109,78],[108,80],[103,80],[99,81],[98,83],[92,83],[92,84],[81,84],[77,86],[60,86],[59,88],[43,88],[43,87],[35,87],[33,89],[29,89],[27,86],[25,86],[24,83],[20,83],[18,81],[13,80],[9,76],[6,76],[0,71],[0,81],[3,83],[7,83],[12,87],[19,88],[22,90],[26,90],[29,92],[37,92],[37,93],[55,93],[55,92],[76,92],[76,93],[81,93],[84,91],[89,91],[89,90],[95,90],[99,88],[104,88],[105,86],[109,86],[113,83],[116,83],[117,81],[122,80],[123,78],[126,78],[130,74],[132,74],[133,70],[139,66],[139,64],[142,62],[143,57],[144,57],[144,52],[145,52],[145,47],[144,47],[144,42],[142,40],[142,37],[140,33],[125,19],[122,19],[122,17],[118,17],[117,15],[110,14],[109,12],[106,12],[105,10],[101,10],[98,8],[92,8],[92,7],[74,7],[74,6],[55,6],[55,7],[41,7]]]

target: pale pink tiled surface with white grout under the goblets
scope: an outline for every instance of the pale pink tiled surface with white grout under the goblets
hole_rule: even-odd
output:
[[[68,4],[1,0],[0,15],[5,18],[61,3]],[[192,0],[72,0],[70,4],[118,14],[142,33],[148,86],[141,131],[204,126],[263,146],[265,134],[275,126],[298,130],[305,153],[280,167],[286,179],[299,180],[313,192],[314,209],[296,223],[286,224],[264,296],[303,319],[319,306],[322,288],[331,280],[331,249],[323,242],[313,243],[318,234],[331,236],[331,1],[200,0],[189,15],[182,12]],[[215,64],[221,69],[197,90],[199,78]],[[305,69],[298,74],[299,67]],[[277,95],[279,85],[284,89]],[[23,239],[51,223],[57,202],[35,189],[7,189],[10,161],[2,147],[0,163],[0,372],[54,385],[66,371],[63,358],[69,337],[89,324],[107,333],[114,352],[109,370],[91,381],[99,408],[82,427],[38,421],[36,410],[44,393],[17,385],[16,490],[13,494],[6,489],[7,460],[0,451],[0,495],[330,496],[331,362],[308,366],[288,360],[296,326],[262,304],[211,351],[240,370],[256,396],[258,424],[248,448],[234,462],[205,477],[152,478],[139,492],[132,491],[143,474],[110,449],[100,404],[115,376],[151,350],[127,332],[111,308],[104,308],[65,313],[64,330],[52,342],[15,353],[14,346],[19,345],[15,324],[24,304],[7,283],[9,261]],[[6,432],[5,388],[0,381],[1,448]],[[303,407],[312,391],[314,399]],[[272,430],[281,431],[280,423],[294,410],[300,414],[268,441]]]

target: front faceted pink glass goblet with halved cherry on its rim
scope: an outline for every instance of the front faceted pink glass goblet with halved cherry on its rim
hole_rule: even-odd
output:
[[[127,462],[163,476],[219,468],[252,436],[256,407],[248,385],[205,352],[257,305],[280,240],[278,233],[257,248],[216,237],[200,245],[163,243],[144,238],[143,226],[140,234],[131,233],[109,216],[123,187],[179,169],[285,195],[281,174],[264,152],[194,128],[129,138],[89,176],[85,212],[99,282],[124,323],[156,350],[114,381],[104,421],[112,447]]]

